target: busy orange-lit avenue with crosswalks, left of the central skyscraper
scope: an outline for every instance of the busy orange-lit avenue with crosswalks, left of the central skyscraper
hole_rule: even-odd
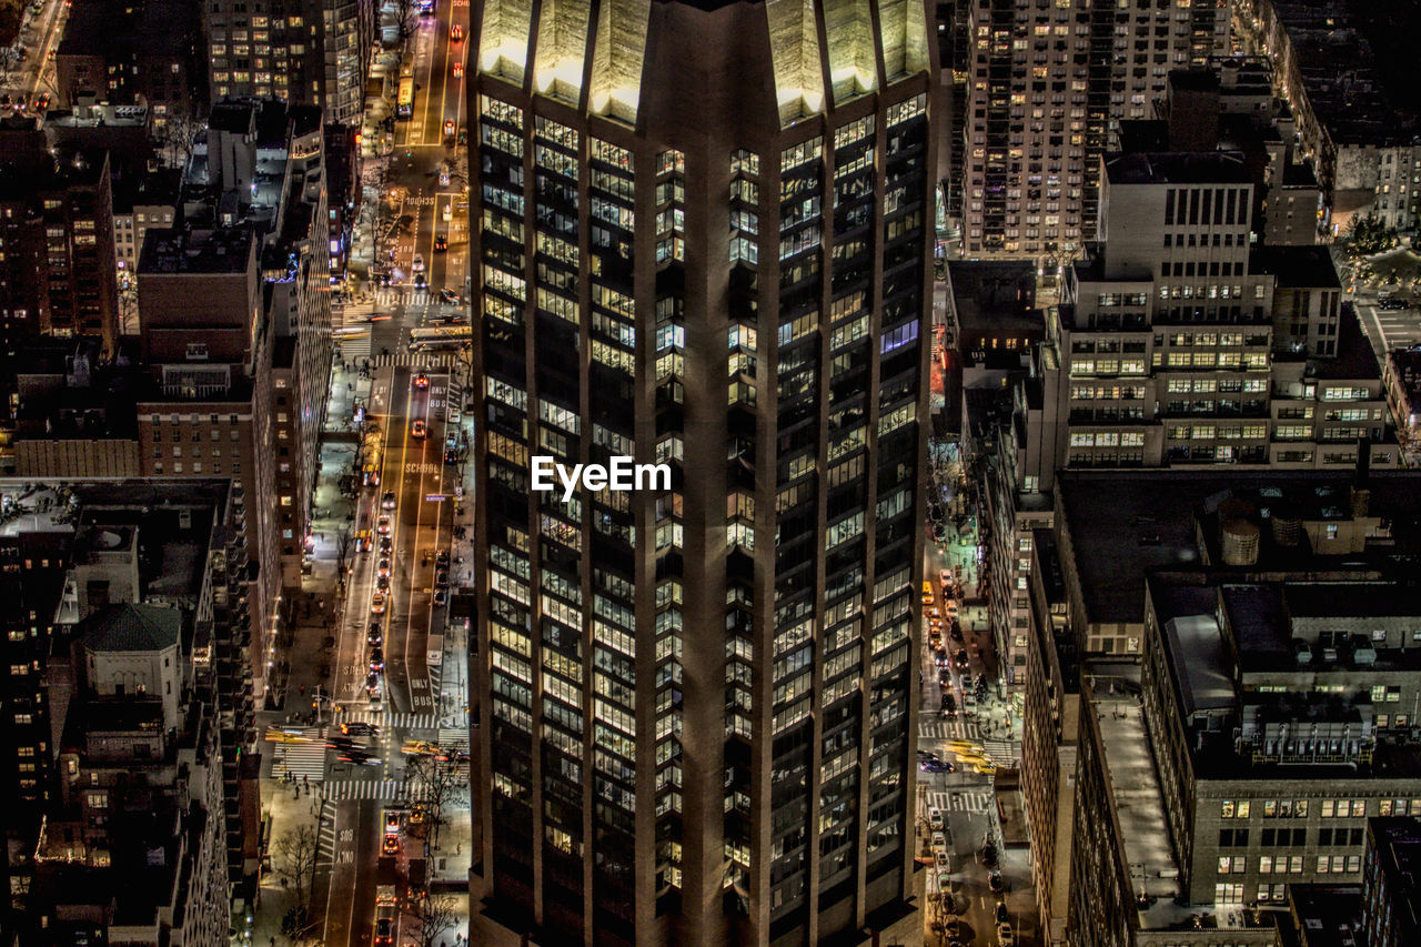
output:
[[[448,627],[449,596],[469,582],[469,563],[452,546],[455,530],[469,526],[472,503],[463,454],[456,449],[458,462],[446,462],[446,448],[462,448],[472,435],[458,414],[468,344],[468,178],[455,159],[468,20],[466,0],[456,0],[411,21],[401,67],[412,78],[411,115],[395,122],[375,218],[385,239],[377,240],[372,279],[354,284],[335,314],[308,543],[307,589],[320,607],[311,627],[297,628],[284,712],[264,721],[284,731],[267,744],[264,809],[277,843],[301,825],[318,833],[311,901],[330,946],[369,947],[382,924],[394,943],[414,943],[414,901],[379,893],[388,889],[381,872],[392,870],[381,869],[382,853],[398,865],[401,884],[421,879],[463,890],[475,849],[466,634],[462,620]],[[315,718],[301,719],[313,708]],[[441,764],[438,779],[428,765],[435,752],[453,761]],[[432,798],[442,826],[416,835],[411,815],[435,805]],[[398,820],[394,836],[387,819]],[[276,911],[288,899],[273,890],[271,903]],[[460,901],[459,917],[435,943],[468,933],[466,910]],[[260,914],[254,941],[264,944],[276,921],[266,907]]]

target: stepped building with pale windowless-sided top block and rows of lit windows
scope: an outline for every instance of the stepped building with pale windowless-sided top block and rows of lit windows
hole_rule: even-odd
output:
[[[1296,282],[1300,257],[1252,253],[1242,155],[1113,155],[1104,175],[1104,240],[1069,270],[1050,327],[1069,429],[1059,466],[1349,466],[1360,442],[1373,465],[1397,464],[1380,371],[1336,276],[1316,304],[1275,313],[1279,273]]]

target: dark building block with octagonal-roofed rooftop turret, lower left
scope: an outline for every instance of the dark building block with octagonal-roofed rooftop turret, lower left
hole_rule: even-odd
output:
[[[256,870],[259,826],[246,816],[260,806],[242,769],[256,748],[249,576],[232,489],[0,482],[3,745],[16,788],[0,820],[11,893],[0,930],[18,943],[47,943],[41,931],[75,919],[141,917],[149,933],[124,943],[166,943],[162,921],[180,943],[210,944],[227,926],[229,882]],[[141,742],[148,759],[124,755]],[[183,764],[186,779],[175,783]],[[135,771],[148,779],[126,775]],[[122,783],[152,795],[128,798]],[[87,792],[99,785],[118,795]],[[168,820],[145,833],[149,815]],[[145,865],[135,839],[163,860]]]

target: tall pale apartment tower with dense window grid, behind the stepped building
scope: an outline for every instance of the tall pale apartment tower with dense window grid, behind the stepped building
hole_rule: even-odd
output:
[[[1057,263],[1096,239],[1100,158],[1169,70],[1226,53],[1212,0],[962,0],[969,7],[962,252]],[[944,24],[946,26],[946,24]]]

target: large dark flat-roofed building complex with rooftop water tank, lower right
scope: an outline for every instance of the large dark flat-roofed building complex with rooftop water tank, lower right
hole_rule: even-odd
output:
[[[1054,941],[1293,943],[1289,886],[1361,880],[1366,819],[1421,803],[1417,607],[1391,570],[1415,488],[1060,475],[1022,756]]]

